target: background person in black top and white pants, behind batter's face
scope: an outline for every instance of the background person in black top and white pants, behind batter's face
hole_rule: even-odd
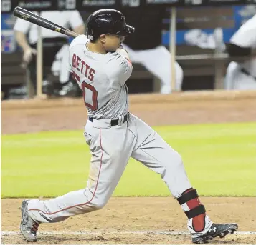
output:
[[[133,35],[128,36],[123,44],[128,51],[133,63],[142,64],[154,76],[161,80],[161,94],[171,93],[171,54],[161,44],[161,25],[163,11],[166,9],[139,8],[123,9],[123,14],[128,23],[135,27]],[[183,70],[178,62],[175,62],[176,91],[181,91]]]

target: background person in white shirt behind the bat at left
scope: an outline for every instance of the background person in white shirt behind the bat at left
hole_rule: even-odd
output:
[[[34,12],[34,14],[39,14]],[[52,21],[65,28],[72,29],[78,34],[85,34],[85,24],[79,11],[41,11],[40,16]],[[30,72],[30,79],[37,91],[37,39],[38,26],[22,19],[16,19],[14,25],[15,37],[19,46],[23,50],[23,65],[27,66]],[[49,29],[42,28],[42,45],[43,45],[43,92],[51,94],[52,85],[47,81],[46,66],[52,67],[52,63],[56,59],[55,56],[60,53],[61,49],[68,49],[68,37]],[[65,61],[63,61],[65,62]],[[68,60],[67,60],[68,62]],[[66,65],[67,66],[67,65]],[[61,73],[61,72],[60,72]],[[72,89],[74,84],[70,84],[70,75],[67,73],[65,77],[61,77],[62,94],[65,95]],[[50,89],[49,89],[50,88]]]

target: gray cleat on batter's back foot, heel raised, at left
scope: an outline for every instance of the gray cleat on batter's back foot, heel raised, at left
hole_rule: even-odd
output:
[[[24,236],[24,239],[27,241],[37,241],[37,229],[39,226],[39,223],[34,221],[28,213],[27,210],[27,203],[28,200],[22,201],[22,221],[20,224],[20,230],[22,232],[22,235]]]

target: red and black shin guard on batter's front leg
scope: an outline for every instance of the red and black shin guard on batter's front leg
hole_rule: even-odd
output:
[[[189,219],[189,228],[193,229],[195,232],[204,231],[206,221],[205,208],[199,200],[196,189],[187,189],[177,200]],[[207,220],[209,220],[209,218]]]

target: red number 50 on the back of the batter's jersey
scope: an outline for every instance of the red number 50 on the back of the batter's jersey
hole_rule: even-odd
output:
[[[72,76],[73,79],[75,79],[75,81],[77,81],[77,84],[81,84],[81,80],[80,80],[80,76],[78,76],[77,74],[75,74],[75,72],[72,72]],[[92,111],[96,111],[98,109],[98,91],[95,89],[95,87],[93,85],[87,84],[86,81],[82,81],[81,84],[81,89],[82,89],[82,96],[84,97],[84,101],[86,100],[86,89],[89,89],[90,91],[92,91],[93,94],[93,104],[89,104],[85,101],[85,106],[87,106],[88,108],[90,108]]]

